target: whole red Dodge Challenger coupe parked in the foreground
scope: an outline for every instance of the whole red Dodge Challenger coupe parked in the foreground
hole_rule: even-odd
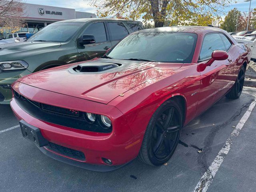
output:
[[[146,29],[101,58],[21,78],[11,107],[24,138],[56,160],[95,171],[136,157],[160,166],[184,125],[223,96],[239,98],[249,61],[250,49],[218,28]]]

